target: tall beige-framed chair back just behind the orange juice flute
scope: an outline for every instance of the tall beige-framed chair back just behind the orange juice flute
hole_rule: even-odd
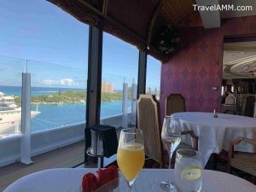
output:
[[[137,101],[137,128],[143,131],[145,154],[162,167],[160,106],[155,96],[140,95]]]

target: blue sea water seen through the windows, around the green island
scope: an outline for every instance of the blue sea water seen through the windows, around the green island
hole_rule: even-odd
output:
[[[32,96],[51,95],[59,90],[74,90],[67,88],[32,87]],[[21,87],[0,86],[0,91],[6,96],[20,96]],[[85,91],[85,90],[84,90]],[[131,110],[131,102],[128,102]],[[41,112],[32,119],[32,132],[44,131],[66,125],[85,122],[86,103],[63,103],[32,105],[32,110]],[[122,113],[122,101],[102,102],[101,119]]]

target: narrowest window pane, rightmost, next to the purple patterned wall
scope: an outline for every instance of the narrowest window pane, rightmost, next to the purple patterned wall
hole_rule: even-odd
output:
[[[160,61],[148,55],[146,93],[155,95],[158,100],[160,99],[160,68]]]

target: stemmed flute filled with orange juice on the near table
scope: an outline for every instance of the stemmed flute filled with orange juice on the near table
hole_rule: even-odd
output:
[[[131,192],[138,173],[145,161],[143,131],[138,129],[123,129],[119,138],[117,162]]]

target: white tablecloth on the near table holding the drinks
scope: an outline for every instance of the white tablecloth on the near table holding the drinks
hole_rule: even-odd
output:
[[[12,183],[3,192],[79,192],[82,177],[96,169],[52,169],[36,172]],[[143,170],[134,183],[136,192],[160,192],[159,183],[166,180],[173,170]],[[127,190],[125,179],[120,177],[119,188],[114,192]],[[204,171],[201,192],[255,192],[256,186],[224,172]]]

